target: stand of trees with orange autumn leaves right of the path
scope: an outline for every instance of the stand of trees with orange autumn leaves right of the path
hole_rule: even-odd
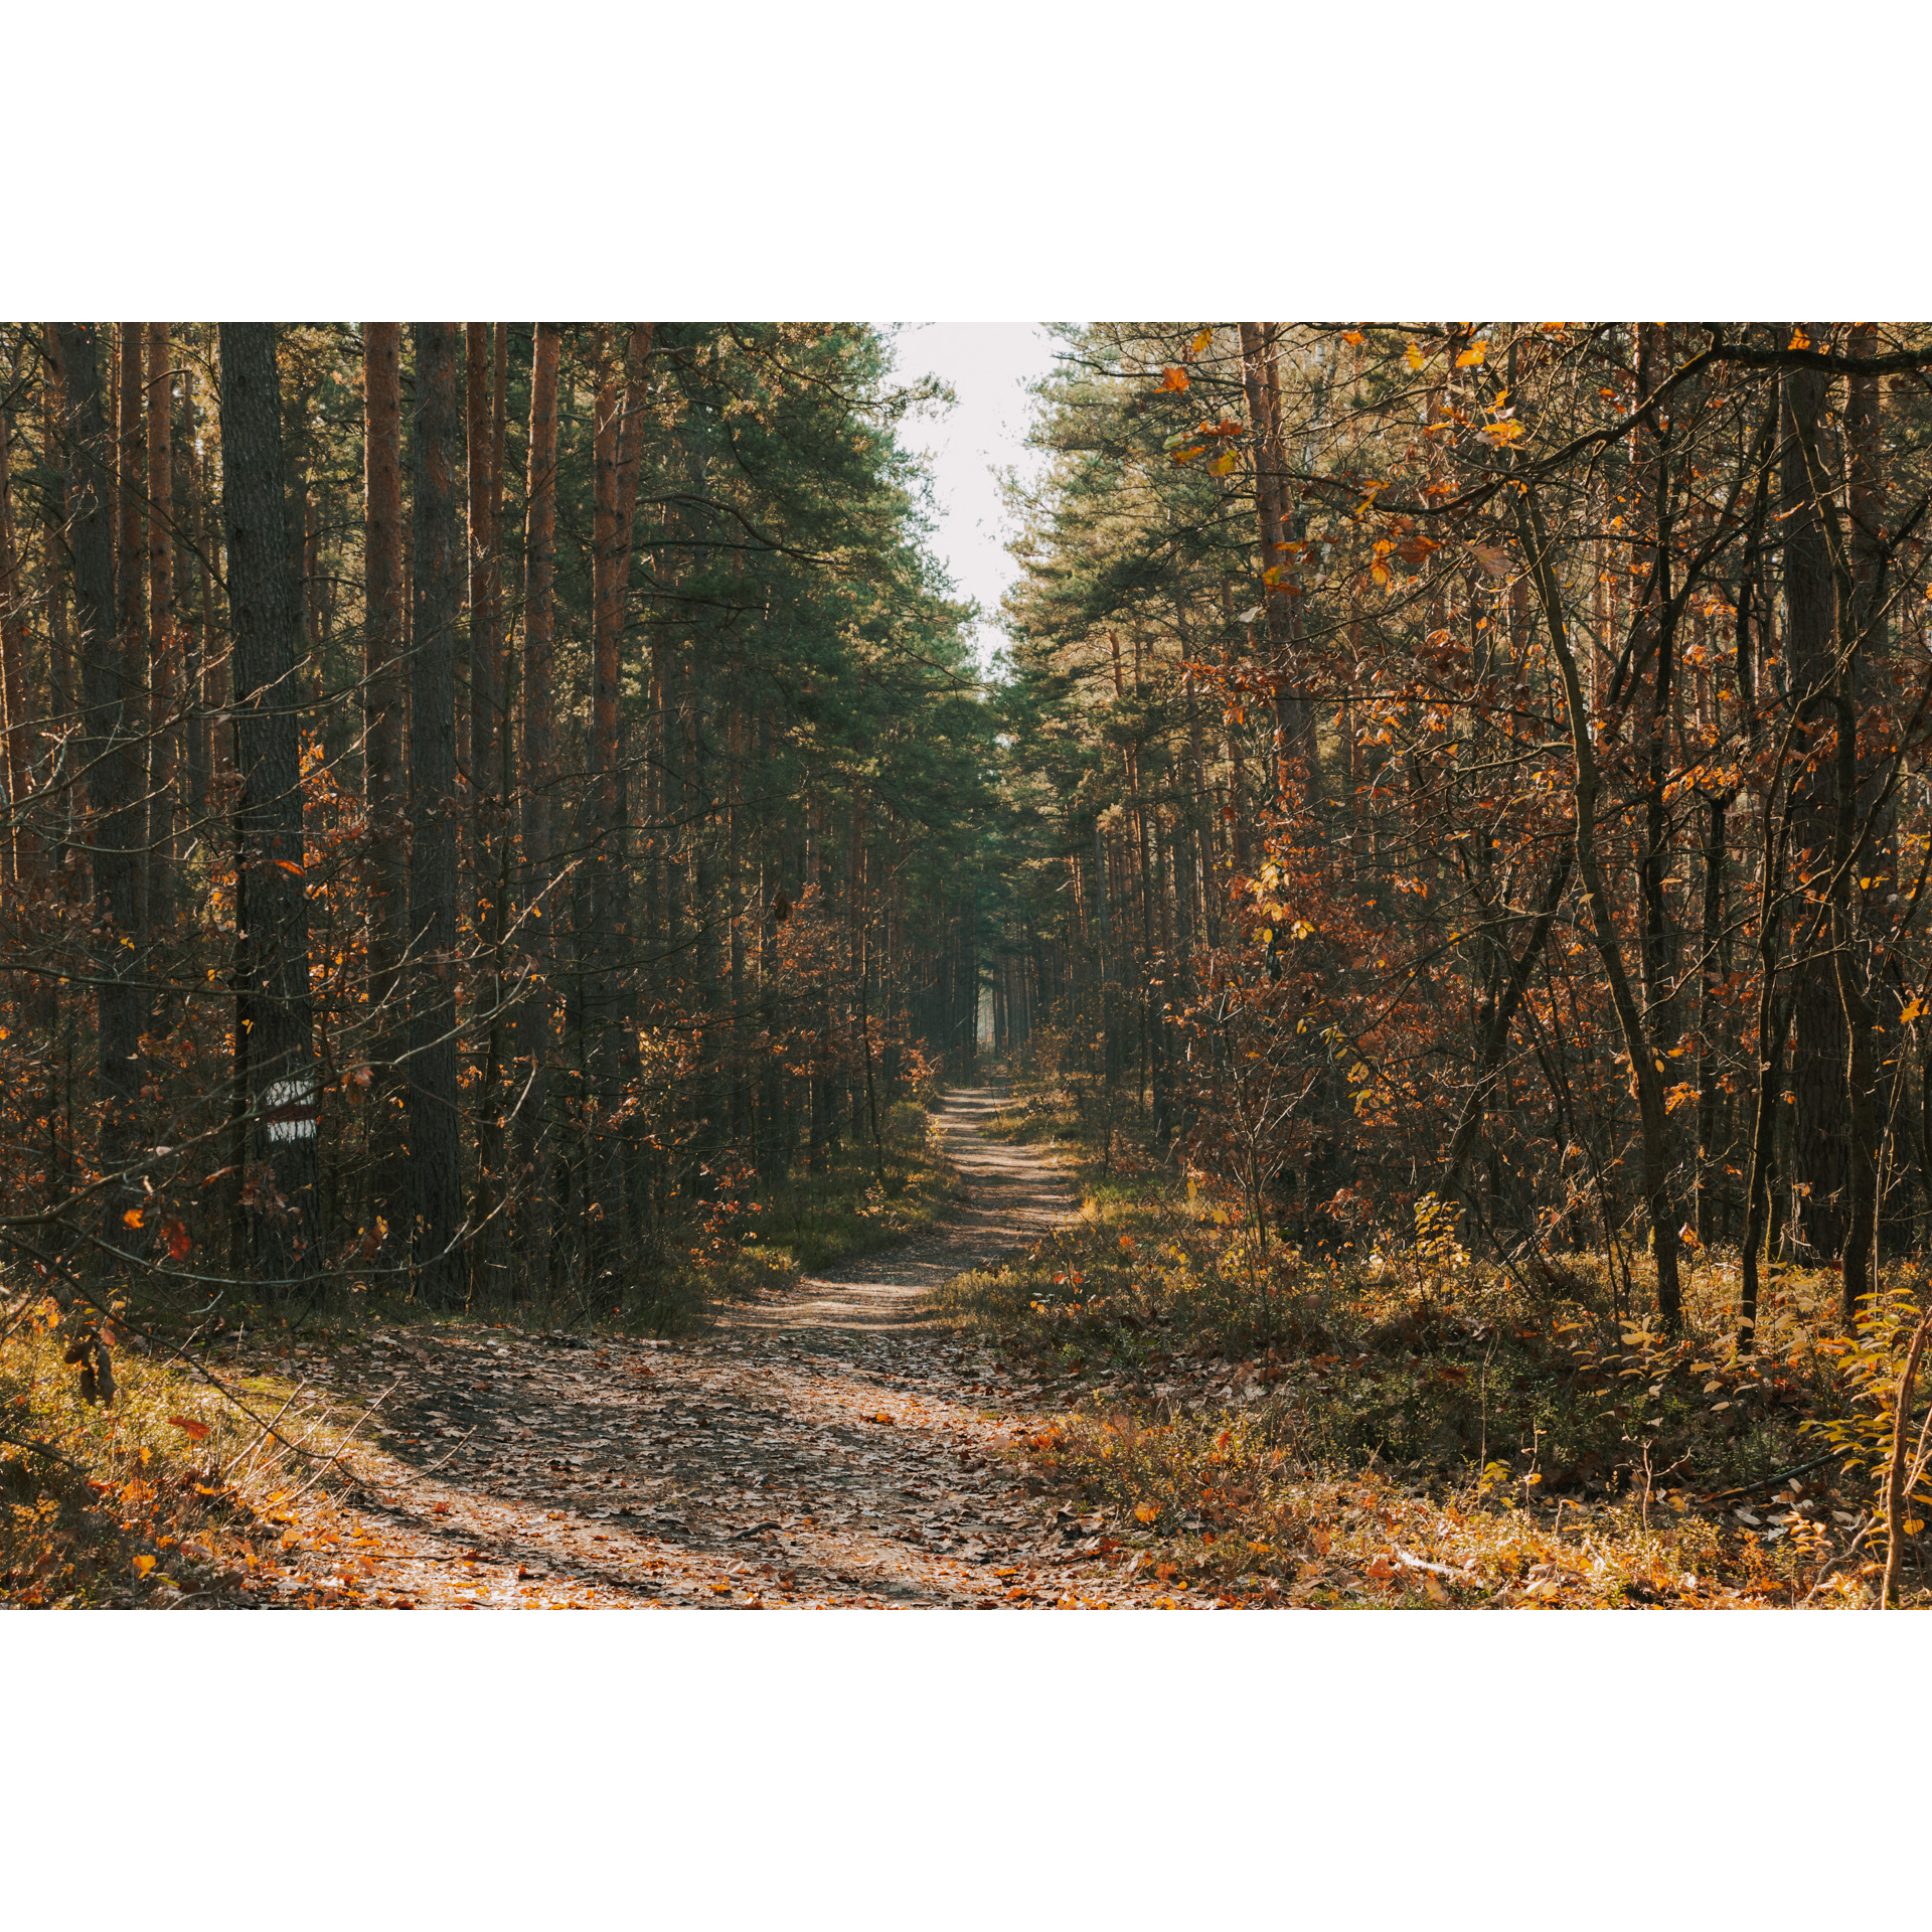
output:
[[[1283,1231],[1443,1186],[1505,1256],[1634,1233],[1665,1321],[1706,1240],[1747,1339],[1766,1242],[1849,1314],[1932,1209],[1926,344],[1076,332],[1003,697],[1024,1024],[1151,1099],[1150,1016],[1291,989]]]

